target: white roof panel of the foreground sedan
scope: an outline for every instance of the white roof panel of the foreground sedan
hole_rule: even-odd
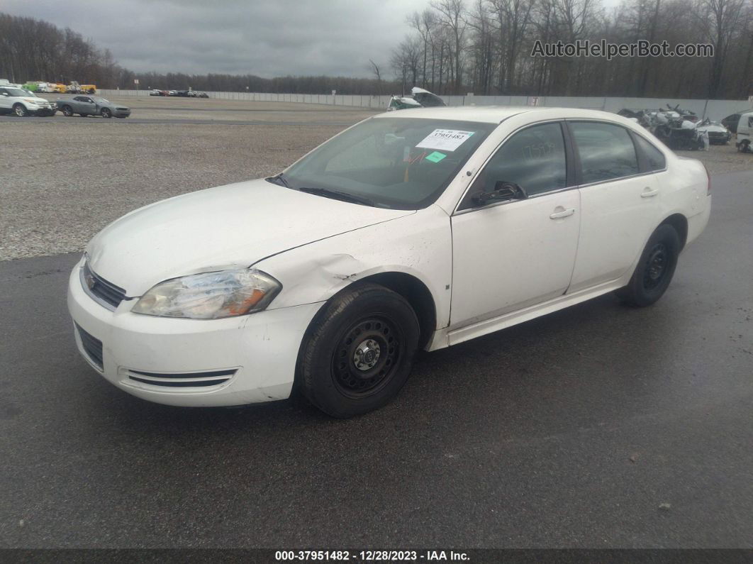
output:
[[[518,114],[530,114],[532,121],[563,118],[602,119],[625,123],[627,120],[609,111],[581,108],[538,108],[533,106],[474,106],[444,108],[416,108],[389,111],[374,117],[421,117],[435,120],[479,121],[482,123],[501,123]],[[633,122],[630,122],[633,123]]]

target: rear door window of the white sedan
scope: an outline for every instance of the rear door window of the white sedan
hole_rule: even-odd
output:
[[[639,173],[636,147],[624,127],[598,121],[572,121],[570,129],[581,156],[583,184]]]

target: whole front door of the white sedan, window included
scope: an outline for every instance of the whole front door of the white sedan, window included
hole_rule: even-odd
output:
[[[581,221],[567,166],[559,122],[514,133],[486,163],[452,218],[450,330],[565,293]],[[511,185],[525,194],[506,198]]]

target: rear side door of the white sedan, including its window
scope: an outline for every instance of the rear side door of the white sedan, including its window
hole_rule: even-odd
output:
[[[630,269],[660,222],[661,186],[643,154],[639,160],[640,141],[626,127],[596,120],[567,123],[578,156],[582,209],[572,293]],[[663,168],[661,152],[654,151],[660,158],[654,169]]]

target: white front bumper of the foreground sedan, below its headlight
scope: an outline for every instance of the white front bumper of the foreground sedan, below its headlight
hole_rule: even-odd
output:
[[[84,291],[82,266],[73,269],[68,288],[76,345],[114,386],[180,406],[253,404],[290,395],[300,342],[321,303],[215,320],[131,313],[136,300],[123,300],[113,312]],[[101,366],[91,352],[93,340],[102,343]]]

